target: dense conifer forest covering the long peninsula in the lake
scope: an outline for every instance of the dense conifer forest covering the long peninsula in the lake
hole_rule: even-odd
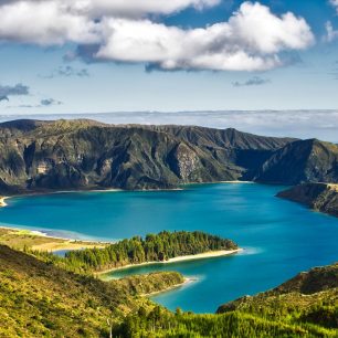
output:
[[[168,232],[135,236],[106,246],[66,253],[64,262],[74,271],[103,271],[128,264],[163,262],[172,257],[218,250],[234,250],[237,245],[226,239],[203,232]]]

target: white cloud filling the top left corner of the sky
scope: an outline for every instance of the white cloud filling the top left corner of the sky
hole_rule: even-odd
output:
[[[98,42],[97,24],[60,1],[15,1],[0,7],[0,39],[42,45]]]

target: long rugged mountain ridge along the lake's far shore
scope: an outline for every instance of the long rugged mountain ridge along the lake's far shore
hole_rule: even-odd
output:
[[[338,181],[338,146],[197,126],[94,120],[0,124],[0,193],[60,189],[172,189],[252,180]]]

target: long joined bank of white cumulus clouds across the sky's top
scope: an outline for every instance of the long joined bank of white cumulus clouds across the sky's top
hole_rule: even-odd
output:
[[[162,70],[262,71],[284,64],[281,52],[314,43],[303,18],[243,2],[228,21],[198,29],[151,21],[219,0],[20,0],[0,6],[0,39],[42,45],[75,42],[94,60],[146,63]],[[91,49],[91,46],[93,46]],[[88,55],[85,55],[86,57]]]

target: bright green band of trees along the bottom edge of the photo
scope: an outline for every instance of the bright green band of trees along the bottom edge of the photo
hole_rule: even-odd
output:
[[[277,307],[264,307],[266,311],[277,311]],[[318,306],[326,316],[325,306]],[[311,323],[303,317],[305,311],[285,313],[285,317],[271,319],[258,313],[230,311],[222,315],[172,314],[157,306],[150,311],[140,308],[137,314],[129,315],[125,321],[115,327],[114,337],[337,337],[337,327],[325,327],[321,323]],[[337,316],[337,307],[330,315]],[[337,317],[336,317],[337,318]]]

